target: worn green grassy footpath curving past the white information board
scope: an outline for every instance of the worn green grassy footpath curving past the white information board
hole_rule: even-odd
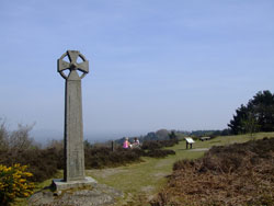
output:
[[[274,133],[255,134],[253,139],[273,137]],[[146,205],[167,183],[173,163],[181,159],[197,159],[213,146],[230,145],[251,140],[250,135],[217,137],[207,141],[196,141],[193,149],[185,149],[185,141],[171,147],[176,154],[163,159],[142,158],[144,162],[103,170],[87,170],[87,175],[125,193],[126,198],[118,205]]]

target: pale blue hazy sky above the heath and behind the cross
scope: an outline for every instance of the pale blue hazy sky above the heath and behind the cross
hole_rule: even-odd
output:
[[[224,129],[274,92],[273,0],[1,0],[0,118],[62,138],[57,59],[80,50],[84,137]]]

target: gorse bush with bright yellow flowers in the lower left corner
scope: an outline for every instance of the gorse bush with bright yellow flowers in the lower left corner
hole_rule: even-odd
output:
[[[27,179],[33,174],[25,171],[26,165],[0,164],[0,203],[9,205],[16,197],[27,197],[33,194],[34,184]]]

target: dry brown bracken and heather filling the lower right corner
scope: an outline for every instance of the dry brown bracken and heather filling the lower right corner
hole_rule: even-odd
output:
[[[212,148],[181,160],[152,206],[273,206],[274,138]]]

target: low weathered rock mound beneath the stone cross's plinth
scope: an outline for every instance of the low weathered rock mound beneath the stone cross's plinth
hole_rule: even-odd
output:
[[[109,206],[124,197],[124,194],[104,184],[94,184],[91,188],[64,191],[56,195],[50,191],[41,191],[28,199],[31,206]]]

